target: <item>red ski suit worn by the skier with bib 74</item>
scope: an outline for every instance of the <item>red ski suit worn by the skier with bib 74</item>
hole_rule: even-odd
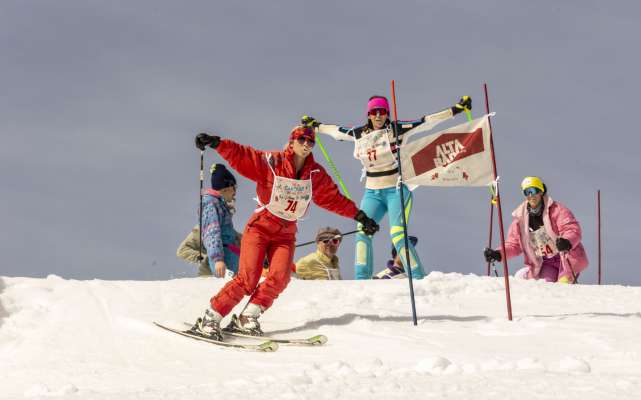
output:
[[[358,207],[339,192],[312,154],[307,156],[297,176],[291,146],[285,151],[267,152],[223,139],[216,151],[241,175],[256,182],[256,194],[261,204],[270,202],[274,175],[277,175],[296,180],[311,179],[311,200],[322,208],[348,218],[354,218],[358,212]],[[225,316],[244,296],[251,295],[251,303],[263,310],[269,308],[289,283],[296,231],[295,220],[278,217],[266,208],[255,212],[243,232],[238,275],[212,297],[211,307]],[[269,259],[269,272],[258,285],[265,255]]]

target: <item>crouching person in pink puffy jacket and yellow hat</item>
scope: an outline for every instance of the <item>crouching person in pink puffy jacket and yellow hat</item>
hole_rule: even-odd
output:
[[[572,211],[552,200],[541,178],[526,177],[521,190],[526,200],[512,212],[514,220],[505,241],[507,258],[523,253],[526,279],[576,283],[588,266],[579,222]],[[490,248],[483,255],[487,262],[503,259],[501,251]]]

